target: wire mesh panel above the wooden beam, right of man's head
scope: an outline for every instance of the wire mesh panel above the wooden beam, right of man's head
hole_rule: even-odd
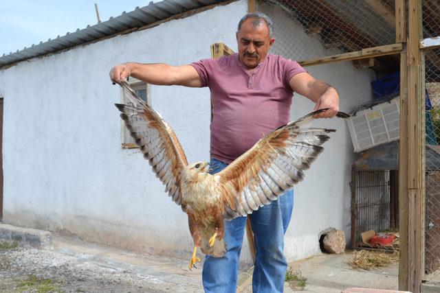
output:
[[[394,1],[263,0],[274,20],[274,54],[294,60],[332,56],[395,43]],[[298,40],[301,40],[298,42]]]

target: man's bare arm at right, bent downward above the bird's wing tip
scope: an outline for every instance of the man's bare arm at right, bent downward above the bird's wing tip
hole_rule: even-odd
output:
[[[336,89],[322,80],[316,80],[309,73],[298,73],[289,81],[290,87],[296,93],[303,95],[315,102],[314,110],[329,108],[329,110],[316,115],[316,118],[331,118],[339,111],[339,95]]]

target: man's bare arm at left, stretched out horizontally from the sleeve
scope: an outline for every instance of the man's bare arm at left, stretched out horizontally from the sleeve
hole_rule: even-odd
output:
[[[181,85],[200,87],[199,73],[191,65],[170,66],[164,63],[142,64],[124,63],[113,67],[110,71],[110,79],[120,82],[129,76],[158,85]]]

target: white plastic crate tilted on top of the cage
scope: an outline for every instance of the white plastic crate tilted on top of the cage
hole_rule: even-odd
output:
[[[349,126],[355,152],[399,139],[399,97],[360,110],[345,121]]]

